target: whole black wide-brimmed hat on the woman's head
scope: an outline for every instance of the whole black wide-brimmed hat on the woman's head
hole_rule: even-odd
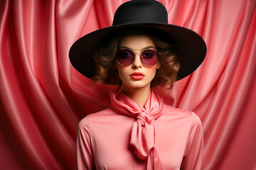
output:
[[[108,35],[129,28],[159,30],[174,42],[180,62],[177,80],[194,72],[206,57],[206,43],[203,38],[193,30],[168,24],[168,13],[163,4],[154,0],[134,0],[127,1],[117,8],[112,26],[95,30],[72,45],[69,52],[71,64],[85,77],[90,79],[95,76],[93,55],[98,45]]]

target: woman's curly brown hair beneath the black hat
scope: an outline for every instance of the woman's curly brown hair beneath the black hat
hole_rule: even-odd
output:
[[[117,69],[114,69],[115,54],[119,50],[119,43],[122,38],[128,35],[146,35],[151,38],[156,50],[160,52],[159,62],[161,64],[161,68],[156,70],[156,75],[151,81],[151,87],[162,86],[170,89],[174,81],[177,80],[176,75],[180,66],[175,54],[175,45],[171,40],[166,40],[168,36],[164,35],[164,33],[159,32],[159,30],[149,30],[148,28],[119,30],[105,38],[105,42],[100,43],[94,55],[96,74],[92,77],[92,80],[96,84],[122,85]]]

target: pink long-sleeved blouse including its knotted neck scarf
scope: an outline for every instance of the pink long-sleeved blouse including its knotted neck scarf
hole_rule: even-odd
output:
[[[110,93],[111,107],[79,123],[78,169],[203,169],[201,120],[153,92],[144,107]]]

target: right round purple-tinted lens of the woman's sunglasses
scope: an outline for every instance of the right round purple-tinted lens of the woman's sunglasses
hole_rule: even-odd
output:
[[[159,60],[159,53],[156,50],[144,50],[141,55],[142,63],[147,66],[153,66]]]

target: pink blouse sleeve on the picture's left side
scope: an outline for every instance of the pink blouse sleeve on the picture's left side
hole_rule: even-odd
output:
[[[83,118],[78,125],[76,141],[76,169],[95,169],[92,145],[90,142],[90,128],[88,118]]]

